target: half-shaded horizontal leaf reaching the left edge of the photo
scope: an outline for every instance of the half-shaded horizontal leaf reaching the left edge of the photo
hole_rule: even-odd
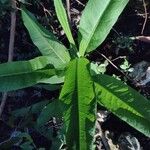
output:
[[[43,83],[55,74],[47,56],[0,64],[0,91],[12,91]]]

